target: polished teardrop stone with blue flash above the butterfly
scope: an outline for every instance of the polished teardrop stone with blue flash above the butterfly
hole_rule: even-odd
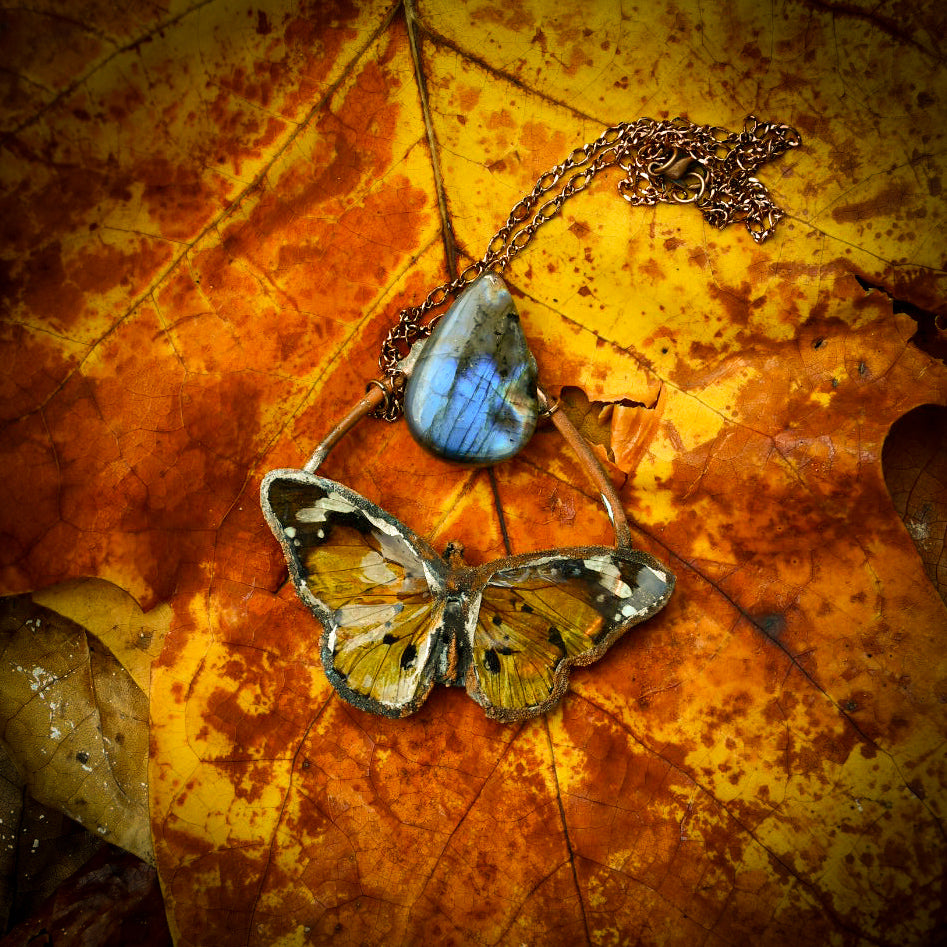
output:
[[[536,360],[495,273],[474,280],[434,327],[408,379],[404,416],[419,444],[462,464],[507,460],[533,436]]]

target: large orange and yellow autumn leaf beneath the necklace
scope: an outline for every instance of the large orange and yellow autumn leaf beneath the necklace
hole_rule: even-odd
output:
[[[944,312],[938,7],[4,17],[4,589],[95,576],[173,609],[149,781],[178,943],[936,939],[947,619],[881,451],[947,401],[910,314]],[[457,693],[343,705],[262,474],[571,148],[750,112],[805,140],[761,174],[772,241],[603,175],[509,273],[548,387],[645,405],[610,450],[671,605],[525,725]],[[485,475],[401,425],[324,469],[503,552]],[[554,434],[497,481],[515,550],[609,541]]]

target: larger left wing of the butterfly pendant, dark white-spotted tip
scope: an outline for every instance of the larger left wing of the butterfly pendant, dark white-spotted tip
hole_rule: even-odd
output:
[[[445,661],[444,561],[394,517],[333,480],[274,470],[260,494],[293,583],[322,622],[329,681],[362,710],[413,713]]]

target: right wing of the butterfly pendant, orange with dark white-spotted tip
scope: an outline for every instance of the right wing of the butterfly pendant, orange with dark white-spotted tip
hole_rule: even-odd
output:
[[[467,691],[499,720],[552,707],[570,667],[597,661],[659,611],[674,588],[665,566],[631,549],[562,549],[500,565],[472,570],[482,591],[467,631]]]

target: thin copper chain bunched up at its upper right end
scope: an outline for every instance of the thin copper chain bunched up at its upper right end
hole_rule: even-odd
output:
[[[532,191],[510,211],[481,259],[432,290],[420,305],[401,310],[381,347],[378,364],[390,394],[375,415],[389,421],[401,416],[404,376],[398,363],[418,339],[431,334],[439,317],[423,325],[421,319],[481,273],[502,273],[536,231],[600,171],[617,165],[625,172],[618,191],[630,204],[695,204],[711,226],[723,228],[742,221],[753,239],[762,243],[783,212],[754,173],[801,142],[794,128],[759,122],[753,116],[736,133],[694,125],[683,118],[660,122],[641,118],[606,128],[595,141],[576,148],[539,177]]]

